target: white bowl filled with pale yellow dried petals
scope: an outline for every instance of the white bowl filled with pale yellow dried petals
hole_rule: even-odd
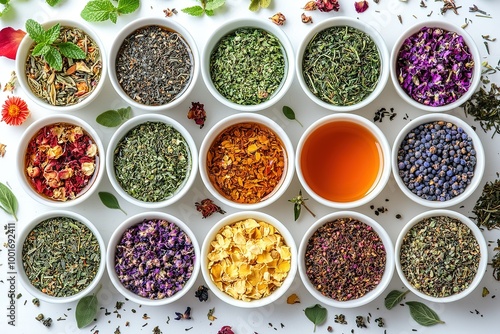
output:
[[[288,290],[297,271],[292,235],[276,218],[240,211],[222,218],[201,249],[201,272],[208,288],[229,305],[268,305]]]

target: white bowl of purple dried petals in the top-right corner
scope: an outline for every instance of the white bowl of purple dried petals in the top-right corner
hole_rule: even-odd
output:
[[[467,101],[479,86],[481,60],[472,37],[444,21],[426,21],[406,30],[391,53],[397,93],[424,111],[442,112]]]

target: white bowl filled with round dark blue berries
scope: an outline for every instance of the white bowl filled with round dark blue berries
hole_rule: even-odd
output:
[[[444,208],[461,203],[481,183],[481,140],[462,119],[428,114],[409,122],[393,145],[394,178],[414,202]]]

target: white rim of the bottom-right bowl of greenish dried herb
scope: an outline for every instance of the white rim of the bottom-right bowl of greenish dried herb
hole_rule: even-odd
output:
[[[447,216],[450,218],[455,218],[460,220],[463,224],[465,224],[467,227],[470,228],[474,236],[476,237],[477,243],[479,244],[479,249],[481,252],[481,258],[479,260],[479,266],[477,268],[477,273],[474,279],[472,280],[471,284],[469,287],[462,292],[456,293],[454,295],[448,296],[448,297],[432,297],[429,295],[426,295],[425,293],[421,292],[420,290],[417,290],[413,285],[408,282],[406,279],[406,276],[403,273],[403,270],[401,269],[401,261],[399,257],[399,253],[401,251],[401,244],[403,242],[404,236],[408,233],[408,231],[418,222],[425,218],[429,217],[436,217],[436,216]],[[470,294],[481,282],[484,273],[486,272],[486,266],[488,264],[488,247],[486,245],[486,241],[483,237],[483,234],[481,230],[474,224],[469,218],[466,216],[462,215],[461,213],[452,211],[452,210],[446,210],[446,209],[439,209],[439,210],[431,210],[431,211],[426,211],[423,212],[412,219],[408,221],[408,223],[403,227],[401,232],[398,235],[398,238],[396,239],[396,245],[395,245],[395,263],[396,263],[396,271],[399,275],[399,278],[401,281],[403,281],[403,284],[413,292],[415,295],[418,297],[435,302],[435,303],[449,303],[449,302],[454,302],[457,300],[460,300]]]

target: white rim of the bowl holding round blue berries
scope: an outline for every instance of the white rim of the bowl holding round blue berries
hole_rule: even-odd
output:
[[[398,151],[399,151],[399,146],[401,145],[401,142],[403,141],[405,136],[417,126],[434,121],[450,122],[455,124],[456,126],[463,128],[464,131],[472,138],[472,142],[474,144],[474,150],[476,151],[476,166],[474,167],[474,175],[472,177],[471,183],[465,188],[463,193],[444,202],[426,200],[412,193],[410,189],[408,189],[408,187],[404,184],[403,180],[401,179],[398,173],[399,171]],[[481,183],[486,162],[485,162],[483,144],[481,143],[479,136],[476,134],[476,132],[472,129],[472,127],[469,124],[467,124],[462,119],[453,115],[433,113],[433,114],[419,116],[410,121],[403,127],[403,129],[401,129],[401,131],[396,136],[396,139],[394,140],[394,145],[392,146],[391,164],[392,164],[392,173],[394,179],[396,180],[399,189],[401,189],[401,191],[406,195],[406,197],[408,197],[409,199],[420,205],[438,209],[459,204],[466,198],[468,198],[470,195],[472,195],[472,193],[477,189],[477,187]]]

